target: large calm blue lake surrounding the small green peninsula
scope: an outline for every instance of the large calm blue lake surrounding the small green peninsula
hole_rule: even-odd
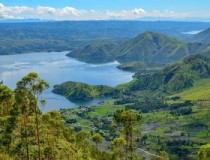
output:
[[[73,103],[65,97],[52,93],[53,86],[66,81],[85,82],[116,86],[132,80],[133,73],[116,68],[118,62],[106,64],[88,64],[65,56],[68,52],[41,52],[20,55],[0,56],[0,80],[11,89],[27,73],[34,71],[48,81],[50,88],[44,92],[47,105],[43,112],[52,109],[72,108],[78,105],[94,105],[105,99]]]

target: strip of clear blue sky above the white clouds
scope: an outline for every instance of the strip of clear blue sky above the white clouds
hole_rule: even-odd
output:
[[[87,10],[122,10],[136,7],[147,10],[201,11],[210,10],[209,0],[1,0],[5,5],[38,5],[61,8],[72,6]]]

